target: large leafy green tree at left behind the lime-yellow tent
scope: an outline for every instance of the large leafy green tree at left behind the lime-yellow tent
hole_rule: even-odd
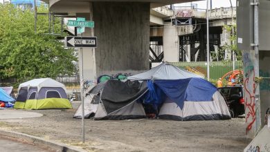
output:
[[[0,11],[0,79],[15,77],[20,81],[75,72],[74,51],[64,49],[57,37],[44,35],[48,33],[48,16],[38,16],[35,34],[33,11],[1,3]],[[42,6],[38,12],[48,12],[48,8]],[[56,19],[55,32],[60,33],[60,29],[60,19]]]

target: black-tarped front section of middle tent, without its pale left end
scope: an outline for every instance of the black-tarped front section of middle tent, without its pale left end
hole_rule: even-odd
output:
[[[101,102],[98,105],[94,119],[122,120],[145,118],[143,104],[138,103],[138,99],[146,92],[146,82],[109,80],[103,88],[100,97]]]

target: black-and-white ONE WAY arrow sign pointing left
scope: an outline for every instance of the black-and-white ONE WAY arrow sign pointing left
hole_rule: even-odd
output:
[[[65,37],[65,46],[74,48],[96,48],[96,37]]]

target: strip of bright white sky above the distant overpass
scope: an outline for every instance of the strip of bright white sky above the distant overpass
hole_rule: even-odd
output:
[[[208,0],[210,3],[210,0]],[[195,1],[192,3],[197,3],[198,8],[204,8],[206,9],[206,1]],[[236,0],[231,0],[231,3],[233,4],[233,6],[236,6]],[[212,8],[220,8],[220,7],[231,7],[231,3],[230,0],[212,0]],[[186,5],[190,5],[190,3],[182,3],[182,4],[175,4],[175,6],[186,6]]]

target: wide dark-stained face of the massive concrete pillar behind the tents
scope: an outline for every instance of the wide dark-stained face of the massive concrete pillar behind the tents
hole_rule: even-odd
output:
[[[150,3],[93,2],[96,73],[140,73],[149,69]]]

